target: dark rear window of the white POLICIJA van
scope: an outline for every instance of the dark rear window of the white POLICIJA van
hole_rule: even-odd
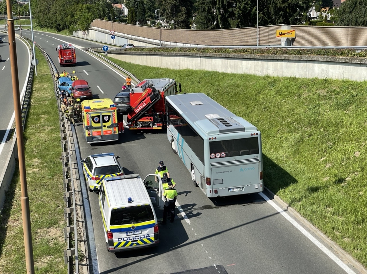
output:
[[[152,207],[140,205],[125,208],[116,208],[111,211],[111,226],[128,225],[154,220]]]

